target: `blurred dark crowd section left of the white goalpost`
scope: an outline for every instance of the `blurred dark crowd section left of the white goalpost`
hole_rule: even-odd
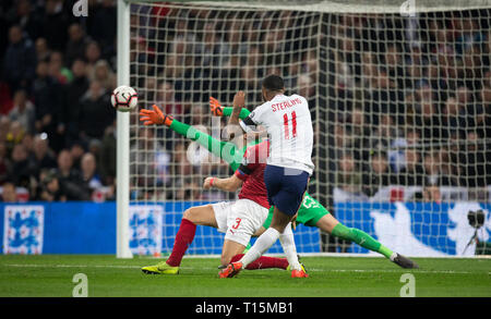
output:
[[[86,19],[72,5],[0,3],[4,201],[113,198],[115,1],[91,1]]]

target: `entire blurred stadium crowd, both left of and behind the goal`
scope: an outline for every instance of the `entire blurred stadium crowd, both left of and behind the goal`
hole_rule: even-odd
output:
[[[5,201],[15,187],[29,200],[115,195],[115,1],[88,1],[87,17],[73,16],[67,2],[0,4]],[[252,108],[260,79],[277,73],[309,99],[322,183],[368,197],[418,185],[424,200],[438,200],[441,186],[491,185],[489,10],[406,19],[132,9],[131,85],[142,107],[158,103],[206,130],[209,95],[226,105],[243,89]],[[221,196],[200,186],[208,174],[230,173],[224,163],[206,162],[199,148],[190,158],[189,142],[170,130],[132,134],[133,197]]]

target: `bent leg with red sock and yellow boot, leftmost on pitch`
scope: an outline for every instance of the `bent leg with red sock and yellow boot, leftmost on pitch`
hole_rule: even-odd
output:
[[[178,274],[182,257],[194,240],[196,225],[218,228],[212,205],[187,209],[182,216],[169,258],[157,265],[143,267],[142,271],[147,274]]]

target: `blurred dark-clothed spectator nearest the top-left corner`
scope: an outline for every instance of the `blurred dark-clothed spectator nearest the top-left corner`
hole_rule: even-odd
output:
[[[36,51],[17,25],[9,29],[9,47],[3,58],[3,77],[13,90],[28,88],[36,70]]]

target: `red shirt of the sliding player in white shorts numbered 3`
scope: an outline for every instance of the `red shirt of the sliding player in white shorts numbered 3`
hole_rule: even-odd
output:
[[[266,185],[264,184],[264,169],[266,168],[270,143],[267,140],[250,146],[246,149],[242,163],[236,171],[236,176],[243,181],[239,193],[240,199],[250,199],[270,209]]]

